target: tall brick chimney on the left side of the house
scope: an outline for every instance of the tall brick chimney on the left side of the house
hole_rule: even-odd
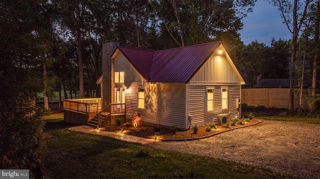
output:
[[[102,108],[114,103],[114,59],[111,55],[119,46],[118,41],[105,41],[102,44]]]

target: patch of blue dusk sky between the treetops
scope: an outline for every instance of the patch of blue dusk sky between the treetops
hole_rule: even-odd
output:
[[[277,7],[269,4],[265,0],[257,0],[253,7],[253,12],[250,12],[242,19],[243,27],[239,31],[241,41],[245,45],[257,40],[259,43],[264,43],[267,46],[271,45],[271,39],[288,40],[291,38],[291,33],[280,16],[280,11]]]

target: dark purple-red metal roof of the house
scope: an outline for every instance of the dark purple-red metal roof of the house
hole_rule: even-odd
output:
[[[210,42],[151,51],[118,47],[148,82],[188,82],[221,44]]]

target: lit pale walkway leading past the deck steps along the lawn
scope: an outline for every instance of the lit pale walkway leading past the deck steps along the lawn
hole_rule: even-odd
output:
[[[89,127],[89,126],[75,126],[75,127],[69,128],[69,130],[82,132],[82,133],[88,133],[88,134],[107,136],[107,137],[111,137],[111,138],[118,139],[121,141],[126,141],[126,142],[130,142],[130,143],[139,143],[142,145],[157,142],[157,140],[154,140],[154,139],[146,139],[146,138],[130,136],[130,135],[126,135],[126,134],[119,134],[119,133],[114,133],[114,132],[96,130],[96,129]]]

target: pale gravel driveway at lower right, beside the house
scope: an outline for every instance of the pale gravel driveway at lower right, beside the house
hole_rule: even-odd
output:
[[[320,179],[320,124],[263,120],[205,139],[148,145],[269,168],[300,179]]]

